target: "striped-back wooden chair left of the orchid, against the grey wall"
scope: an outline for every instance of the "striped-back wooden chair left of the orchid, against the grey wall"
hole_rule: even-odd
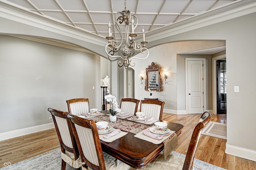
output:
[[[82,115],[82,113],[90,112],[89,99],[70,99],[66,102],[68,105],[68,113],[73,115]]]

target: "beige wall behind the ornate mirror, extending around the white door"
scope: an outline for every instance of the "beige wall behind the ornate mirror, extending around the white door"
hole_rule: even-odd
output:
[[[149,49],[150,56],[145,60],[135,60],[135,98],[149,97],[149,92],[140,84],[140,74],[146,76],[145,68],[152,62],[161,66],[163,91],[154,92],[153,97],[165,102],[164,111],[167,113],[186,113],[185,90],[185,57],[206,58],[206,110],[212,110],[212,58],[210,55],[178,55],[188,51],[224,46],[225,41],[185,41],[158,45]],[[142,57],[142,54],[137,56]],[[168,75],[167,84],[164,83],[164,71]],[[210,76],[210,77],[209,77]],[[144,81],[143,81],[144,82]],[[145,83],[144,83],[145,84]]]

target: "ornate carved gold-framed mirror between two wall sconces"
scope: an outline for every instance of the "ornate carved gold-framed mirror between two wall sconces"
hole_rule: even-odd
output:
[[[163,91],[161,67],[154,62],[146,68],[145,90]]]

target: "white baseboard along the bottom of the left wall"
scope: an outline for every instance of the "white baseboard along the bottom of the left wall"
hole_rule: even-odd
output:
[[[42,130],[47,130],[50,128],[55,128],[54,123],[47,123],[44,125],[38,125],[38,126],[34,126],[34,127],[22,128],[22,129],[18,129],[18,130],[12,130],[9,132],[0,133],[0,141],[10,139],[10,138],[15,138],[15,137],[22,136],[25,134],[39,132]]]

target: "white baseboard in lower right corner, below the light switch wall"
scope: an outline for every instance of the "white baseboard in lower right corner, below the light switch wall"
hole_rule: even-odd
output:
[[[250,149],[226,144],[225,153],[231,154],[234,156],[238,156],[240,158],[245,158],[248,160],[256,161],[256,151],[255,150],[250,150]]]

